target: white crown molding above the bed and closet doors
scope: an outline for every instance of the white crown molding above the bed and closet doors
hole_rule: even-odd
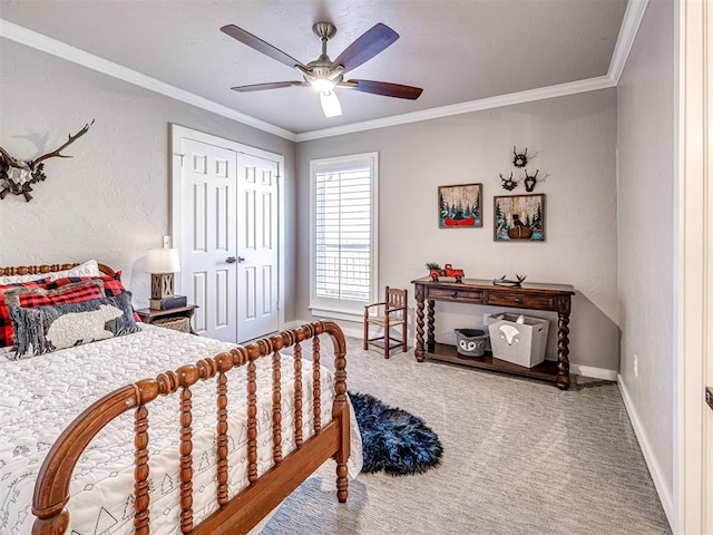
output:
[[[228,119],[236,120],[247,126],[252,126],[260,130],[273,134],[279,137],[283,137],[291,142],[296,140],[296,135],[292,132],[280,128],[279,126],[265,123],[250,115],[236,111],[223,106],[221,104],[208,100],[207,98],[199,97],[193,93],[179,89],[170,84],[157,80],[150,76],[143,75],[136,70],[129,69],[121,65],[109,61],[108,59],[100,58],[92,54],[80,50],[79,48],[71,47],[61,41],[43,36],[36,31],[29,30],[21,26],[14,25],[7,20],[0,19],[0,37],[10,39],[12,41],[26,45],[28,47],[41,50],[46,54],[57,56],[58,58],[66,59],[88,69],[102,72],[119,80],[127,81],[135,86],[143,87],[154,93],[158,93],[166,97],[179,100],[182,103],[196,106],[198,108],[212,111],[216,115],[221,115]]]

